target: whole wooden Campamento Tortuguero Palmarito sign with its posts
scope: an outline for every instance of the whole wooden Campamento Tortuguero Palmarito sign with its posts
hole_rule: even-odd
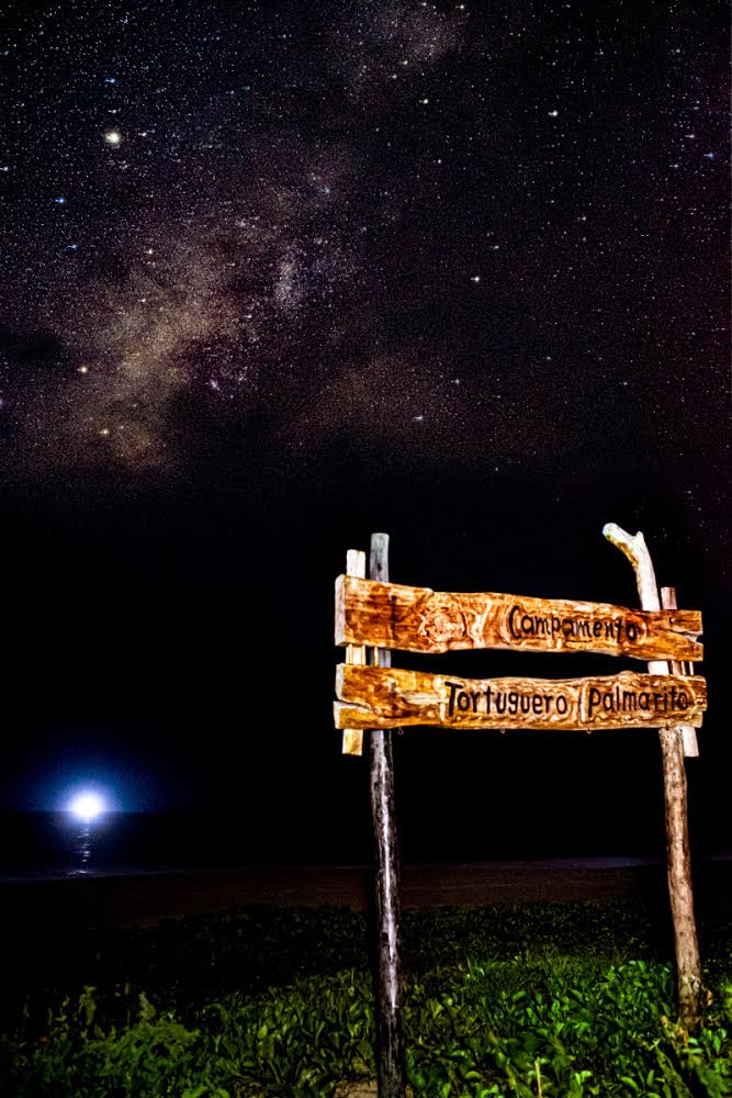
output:
[[[708,993],[702,984],[694,920],[684,770],[684,743],[688,736],[689,753],[698,754],[698,750],[691,750],[690,740],[707,708],[707,683],[692,674],[690,662],[703,656],[697,639],[701,615],[676,609],[672,589],[664,589],[658,600],[653,563],[641,533],[630,535],[609,523],[603,534],[633,565],[640,610],[607,603],[489,592],[450,594],[388,583],[388,538],[383,534],[372,535],[371,580],[363,578],[359,554],[349,550],[349,574],[336,581],[336,643],[346,646],[346,663],[338,666],[336,674],[335,724],[345,730],[344,750],[349,753],[360,754],[361,730],[372,730],[369,746],[378,850],[381,1098],[404,1098],[407,1093],[390,728],[657,728],[664,765],[679,1021],[692,1032],[701,1019]],[[630,656],[647,661],[649,673],[623,671],[586,679],[460,679],[390,665],[392,649],[438,653],[473,648]]]

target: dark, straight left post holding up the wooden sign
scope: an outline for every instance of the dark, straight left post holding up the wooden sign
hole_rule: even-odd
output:
[[[388,535],[372,534],[369,575],[388,580]],[[372,649],[372,663],[391,666],[392,653]],[[394,815],[392,732],[369,733],[371,813],[376,840],[376,926],[379,932],[379,1098],[405,1098],[406,1072],[402,1021],[399,866]]]

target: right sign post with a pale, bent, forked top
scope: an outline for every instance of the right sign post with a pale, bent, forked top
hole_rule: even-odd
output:
[[[660,609],[655,572],[643,535],[639,531],[633,537],[615,523],[609,523],[603,529],[603,534],[631,562],[635,572],[641,607],[644,610]],[[653,660],[649,663],[649,671],[652,674],[667,674],[668,664],[665,661]],[[668,894],[674,922],[678,1016],[682,1026],[691,1031],[701,1020],[703,985],[694,918],[684,732],[679,725],[674,725],[661,728],[658,737],[663,758]]]

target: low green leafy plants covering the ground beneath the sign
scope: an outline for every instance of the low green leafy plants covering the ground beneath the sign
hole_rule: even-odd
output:
[[[712,1001],[687,1038],[653,925],[629,903],[410,914],[414,1095],[732,1095],[729,939],[711,935]],[[45,984],[26,973],[32,989],[0,1044],[0,1093],[320,1098],[375,1075],[361,916],[251,909],[87,942],[86,960],[83,949],[67,942],[56,971],[40,955]],[[95,987],[74,986],[69,959]]]

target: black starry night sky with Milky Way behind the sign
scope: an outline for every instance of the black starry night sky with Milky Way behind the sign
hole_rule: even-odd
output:
[[[346,550],[383,529],[398,582],[633,605],[617,522],[703,612],[691,819],[730,849],[727,9],[11,14],[5,808],[91,778],[236,815],[241,861],[358,860],[365,764],[330,716]],[[395,754],[407,856],[661,849],[654,732]]]

